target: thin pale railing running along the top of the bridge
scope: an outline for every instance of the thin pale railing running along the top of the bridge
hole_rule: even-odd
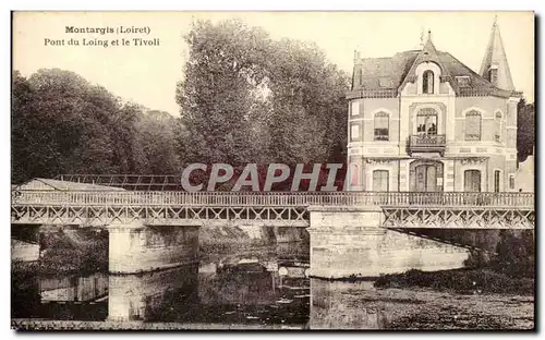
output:
[[[533,193],[12,191],[12,204],[65,206],[534,206]]]

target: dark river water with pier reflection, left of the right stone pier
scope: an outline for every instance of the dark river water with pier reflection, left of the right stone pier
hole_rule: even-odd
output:
[[[277,254],[222,257],[142,275],[26,274],[12,282],[12,317],[302,327],[310,315],[308,253]]]

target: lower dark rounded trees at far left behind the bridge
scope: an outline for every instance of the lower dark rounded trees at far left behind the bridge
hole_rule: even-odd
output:
[[[13,75],[13,182],[60,173],[140,173],[147,157],[172,154],[174,138],[145,154],[138,145],[146,124],[142,106],[126,102],[82,76],[59,69],[29,78]],[[170,122],[169,122],[170,123]],[[167,124],[169,124],[167,123]],[[157,126],[168,133],[164,125]],[[158,131],[157,135],[161,133]],[[149,129],[144,138],[152,135]],[[148,141],[149,142],[149,141]],[[150,143],[150,142],[149,142]],[[147,144],[149,144],[147,143]],[[153,143],[152,143],[153,144]],[[168,158],[177,158],[169,155]],[[157,163],[153,161],[153,163]],[[167,167],[174,167],[168,163]],[[159,171],[160,167],[155,166]],[[148,172],[146,170],[145,172]]]

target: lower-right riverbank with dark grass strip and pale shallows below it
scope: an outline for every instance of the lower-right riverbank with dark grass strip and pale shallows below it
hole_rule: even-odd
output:
[[[533,329],[534,279],[489,268],[312,281],[311,328]]]

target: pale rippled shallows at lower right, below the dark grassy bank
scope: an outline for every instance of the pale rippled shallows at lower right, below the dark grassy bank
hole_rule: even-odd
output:
[[[534,328],[534,296],[459,294],[425,288],[364,287],[312,281],[311,329]],[[316,298],[314,298],[316,296]]]

